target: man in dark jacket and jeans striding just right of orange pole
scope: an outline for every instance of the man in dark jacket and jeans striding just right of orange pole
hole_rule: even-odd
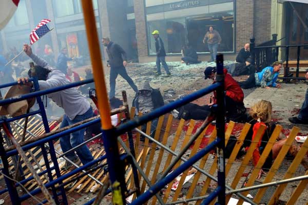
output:
[[[117,79],[118,75],[121,75],[127,81],[127,83],[130,85],[130,87],[136,93],[138,93],[137,86],[133,83],[132,79],[128,76],[126,69],[125,69],[125,67],[127,65],[126,52],[118,44],[110,42],[110,39],[108,37],[103,38],[102,43],[103,43],[104,46],[107,47],[106,51],[107,51],[108,58],[109,58],[109,60],[107,61],[109,66],[110,66],[109,99],[111,99],[115,96],[115,79]]]

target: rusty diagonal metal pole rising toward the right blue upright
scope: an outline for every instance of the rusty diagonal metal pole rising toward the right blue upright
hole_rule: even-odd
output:
[[[162,176],[159,178],[161,180],[167,174],[170,172],[170,170],[176,165],[176,163],[181,159],[181,157],[185,154],[185,152],[189,149],[189,147],[195,142],[195,140],[199,137],[199,135],[203,132],[203,130],[210,124],[211,121],[213,121],[214,113],[211,111],[210,114],[206,117],[201,127],[197,130],[197,132],[192,135],[192,137],[189,139],[188,143],[185,145],[185,147],[180,151],[179,155],[176,156],[176,158],[170,163],[170,165],[167,167],[165,172],[162,174]]]

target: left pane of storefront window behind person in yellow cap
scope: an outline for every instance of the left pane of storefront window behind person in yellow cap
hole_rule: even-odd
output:
[[[149,29],[149,53],[156,54],[155,39],[152,31],[158,30],[162,38],[167,54],[181,53],[185,45],[185,18],[154,20],[148,22]]]

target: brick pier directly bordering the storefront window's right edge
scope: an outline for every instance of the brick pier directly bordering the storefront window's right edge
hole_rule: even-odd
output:
[[[260,1],[260,0],[256,0]],[[263,0],[261,0],[263,1]],[[254,0],[236,1],[236,51],[249,43],[254,33]]]

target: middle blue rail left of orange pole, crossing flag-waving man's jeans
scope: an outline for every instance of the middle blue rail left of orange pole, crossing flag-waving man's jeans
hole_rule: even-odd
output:
[[[57,139],[57,138],[63,137],[64,135],[67,135],[67,134],[70,134],[70,133],[72,133],[72,132],[75,132],[75,131],[84,129],[84,128],[86,128],[86,127],[89,127],[89,126],[91,126],[91,125],[93,125],[93,124],[95,124],[95,123],[97,123],[97,122],[100,122],[100,121],[101,121],[100,118],[94,119],[94,120],[92,120],[92,121],[86,122],[85,124],[82,124],[82,125],[76,126],[76,127],[74,127],[74,128],[71,128],[71,129],[62,131],[62,132],[60,132],[60,133],[56,133],[56,134],[51,135],[51,136],[49,136],[49,137],[46,137],[46,138],[43,138],[43,139],[34,141],[34,142],[32,142],[32,143],[30,143],[30,144],[28,144],[28,145],[23,146],[22,149],[23,149],[24,151],[29,150],[29,149],[34,148],[34,147],[36,147],[36,146],[40,146],[40,145],[42,145],[42,144],[45,144],[46,142],[48,142],[48,141],[50,141],[50,140],[55,140],[55,139]],[[13,156],[13,155],[15,155],[15,154],[17,154],[17,150],[16,150],[16,149],[11,150],[11,151],[8,151],[8,152],[6,153],[6,156],[7,156],[7,157],[10,157],[10,156]]]

